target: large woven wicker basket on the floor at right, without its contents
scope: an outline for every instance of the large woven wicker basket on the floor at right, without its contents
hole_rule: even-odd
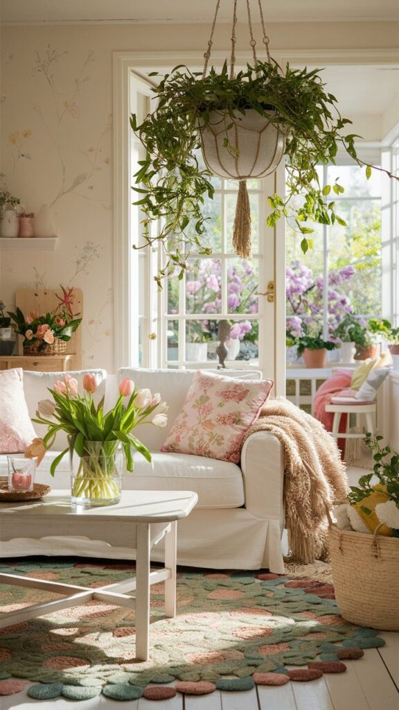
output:
[[[399,539],[330,525],[329,552],[335,597],[346,621],[399,631]]]

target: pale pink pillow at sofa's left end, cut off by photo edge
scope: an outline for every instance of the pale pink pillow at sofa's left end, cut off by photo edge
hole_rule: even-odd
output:
[[[35,436],[23,393],[23,371],[0,371],[0,454],[25,451]]]

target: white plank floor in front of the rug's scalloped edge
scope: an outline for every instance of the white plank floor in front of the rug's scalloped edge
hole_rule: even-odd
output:
[[[349,485],[355,485],[364,469],[349,469]],[[33,700],[26,691],[0,697],[0,710],[399,710],[399,632],[381,632],[383,648],[365,650],[357,661],[345,661],[345,673],[324,674],[318,680],[290,682],[280,687],[261,687],[246,692],[214,692],[202,697],[180,694],[163,701],[144,698],[121,702],[103,695],[76,703],[66,699]],[[26,683],[26,688],[31,683]]]

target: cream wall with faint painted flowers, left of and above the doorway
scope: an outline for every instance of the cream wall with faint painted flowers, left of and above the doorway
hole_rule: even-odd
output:
[[[273,23],[273,48],[393,48],[395,23]],[[8,26],[1,30],[1,163],[29,211],[50,204],[55,252],[0,251],[0,298],[44,283],[84,292],[84,364],[113,366],[112,53],[206,48],[207,26]],[[247,47],[239,26],[239,48]],[[214,47],[226,45],[226,26]],[[24,137],[23,132],[26,132]],[[365,136],[370,139],[371,136]]]

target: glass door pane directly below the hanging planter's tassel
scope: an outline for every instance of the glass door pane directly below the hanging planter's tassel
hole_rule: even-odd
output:
[[[227,311],[258,312],[258,262],[227,259]]]

